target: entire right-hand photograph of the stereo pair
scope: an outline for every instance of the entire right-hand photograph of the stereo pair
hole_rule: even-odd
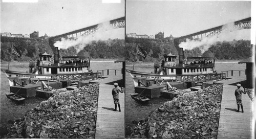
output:
[[[125,137],[252,138],[250,1],[126,1]]]

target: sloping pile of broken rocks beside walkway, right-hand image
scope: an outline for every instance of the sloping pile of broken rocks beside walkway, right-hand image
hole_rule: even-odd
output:
[[[151,112],[135,128],[131,138],[217,138],[223,84],[177,95]],[[126,132],[128,134],[128,132]]]

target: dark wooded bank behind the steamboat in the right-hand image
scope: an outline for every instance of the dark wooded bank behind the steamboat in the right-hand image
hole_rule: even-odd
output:
[[[125,58],[127,61],[154,62],[162,61],[164,55],[172,53],[178,56],[179,52],[175,48],[174,41],[150,40],[143,38],[125,38]],[[147,52],[147,57],[143,59],[137,55],[137,45]],[[232,40],[216,42],[210,45],[209,49],[202,53],[200,47],[192,50],[185,50],[186,57],[215,57],[217,60],[240,60],[252,56],[253,47],[250,40]]]

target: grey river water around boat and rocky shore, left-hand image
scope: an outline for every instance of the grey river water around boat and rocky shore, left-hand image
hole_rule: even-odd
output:
[[[103,69],[121,69],[122,63],[114,63],[115,60],[92,60],[91,69],[93,72]],[[29,62],[11,62],[10,70],[19,72],[29,71]],[[1,62],[1,68],[7,69],[8,63]],[[119,71],[120,72],[120,71]],[[120,72],[121,73],[121,72]],[[114,74],[111,73],[110,74]],[[39,102],[46,99],[39,97],[28,98],[23,104],[16,104],[10,101],[5,93],[10,91],[9,82],[6,75],[1,72],[1,86],[0,86],[0,124],[8,125],[8,121],[14,121],[15,118],[22,118],[25,113],[34,108]],[[111,95],[111,92],[110,92]],[[9,125],[10,126],[10,125]]]

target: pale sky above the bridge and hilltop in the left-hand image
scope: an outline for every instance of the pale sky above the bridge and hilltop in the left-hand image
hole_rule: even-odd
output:
[[[124,16],[124,0],[38,0],[37,3],[3,3],[1,1],[1,33],[56,36]],[[109,38],[124,38],[124,28],[106,33]]]

